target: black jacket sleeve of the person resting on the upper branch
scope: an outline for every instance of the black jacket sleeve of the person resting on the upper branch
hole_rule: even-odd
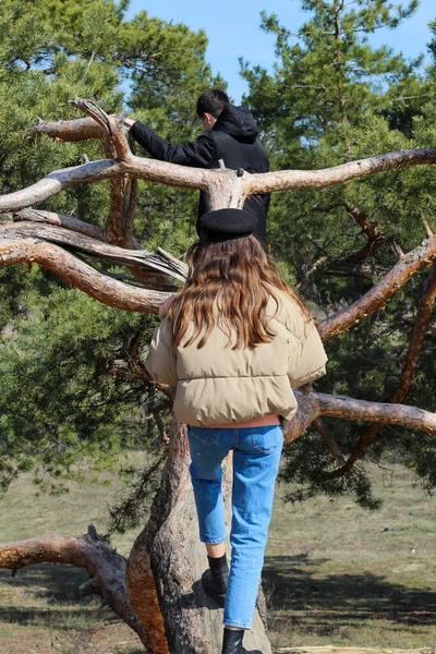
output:
[[[133,138],[159,161],[207,168],[214,158],[215,142],[208,132],[201,134],[196,141],[189,141],[182,145],[171,145],[138,120],[133,123],[130,132]]]

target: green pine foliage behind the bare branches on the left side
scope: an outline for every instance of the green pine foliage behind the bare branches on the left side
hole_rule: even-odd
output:
[[[193,120],[197,95],[222,84],[205,63],[205,35],[145,12],[125,21],[126,4],[2,3],[2,193],[26,187],[52,168],[116,155],[92,119],[83,119],[78,131],[62,131],[63,121],[83,116],[69,104],[75,96],[94,98],[117,113],[123,109],[123,87],[135,113],[164,135],[184,140],[198,131]],[[43,133],[51,138],[40,137]],[[135,179],[72,186],[48,198],[45,208],[57,215],[53,220],[69,215],[90,222],[87,233],[94,238],[106,230],[109,243],[138,247],[135,239],[141,239],[146,246],[165,243],[175,254],[183,252],[194,192],[164,185],[152,192],[145,182],[137,186]],[[98,266],[114,276],[133,277],[111,262]],[[0,349],[0,485],[7,488],[20,471],[33,469],[35,481],[60,491],[81,453],[93,455],[98,473],[101,465],[120,467],[114,455],[128,444],[159,450],[169,402],[132,370],[130,354],[147,340],[156,319],[101,311],[88,298],[66,291],[48,270],[34,268],[29,275],[27,266],[0,267],[0,330],[14,334],[13,341],[2,339]],[[16,380],[24,370],[28,375],[25,388],[20,388]],[[99,409],[89,411],[96,398]],[[130,473],[137,488],[143,471],[132,467]],[[140,504],[137,497],[134,516],[132,507],[129,516],[114,509],[113,523],[120,528],[120,521],[141,521]]]

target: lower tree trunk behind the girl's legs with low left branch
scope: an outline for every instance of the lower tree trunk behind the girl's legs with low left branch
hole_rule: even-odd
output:
[[[99,593],[153,654],[219,654],[222,609],[201,584],[207,558],[198,538],[189,464],[185,426],[174,421],[161,485],[128,561],[89,528],[81,538],[50,535],[0,545],[0,568],[15,571],[39,562],[85,568]],[[223,474],[228,531],[231,476],[230,458]],[[257,605],[244,645],[271,654],[262,591]]]

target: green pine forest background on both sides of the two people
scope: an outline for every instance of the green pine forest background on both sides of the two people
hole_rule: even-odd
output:
[[[263,14],[262,29],[275,40],[275,66],[242,61],[241,74],[249,87],[243,104],[255,114],[272,170],[327,168],[435,146],[436,23],[423,44],[426,66],[421,58],[368,40],[405,23],[417,4],[302,0],[307,20],[296,37],[280,16]],[[198,134],[196,97],[213,85],[227,86],[206,61],[207,36],[145,11],[128,20],[128,9],[126,1],[2,1],[2,194],[84,157],[104,156],[96,142],[65,144],[31,134],[39,119],[78,118],[69,105],[75,96],[97,100],[108,113],[128,109],[172,143]],[[268,249],[315,315],[328,315],[362,295],[399,253],[436,229],[435,190],[434,168],[419,167],[276,194]],[[108,202],[108,185],[99,182],[69,189],[44,208],[100,226]],[[195,235],[195,193],[140,182],[135,237],[147,250],[161,246],[181,256]],[[371,226],[370,240],[363,223]],[[383,311],[329,343],[329,375],[317,390],[375,401],[395,395],[425,279],[425,271],[414,276]],[[110,470],[131,491],[111,508],[109,533],[138,524],[153,475],[126,465],[120,455],[147,450],[159,459],[165,452],[169,403],[130,366],[132,347],[146,351],[156,318],[102,306],[37,267],[0,268],[0,280],[2,501],[22,473],[31,472],[39,488],[62,493],[73,479]],[[431,326],[407,398],[432,412],[435,339]],[[367,428],[324,422],[341,452],[351,451]],[[365,461],[378,463],[386,452],[405,463],[424,491],[435,488],[434,436],[385,427],[366,448]],[[284,455],[288,499],[349,493],[360,506],[376,509],[380,498],[371,469],[361,463],[344,475],[328,475],[335,464],[319,433],[308,429]]]

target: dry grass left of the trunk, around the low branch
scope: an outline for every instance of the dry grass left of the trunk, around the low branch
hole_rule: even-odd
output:
[[[136,455],[135,455],[136,457]],[[137,461],[136,461],[137,462]],[[46,533],[82,535],[88,524],[107,528],[107,506],[121,484],[70,484],[65,495],[35,495],[26,475],[0,499],[0,542]],[[113,538],[126,555],[136,532]],[[97,598],[78,598],[77,588],[88,579],[76,568],[34,566],[17,572],[0,570],[0,654],[140,654],[136,634]]]

